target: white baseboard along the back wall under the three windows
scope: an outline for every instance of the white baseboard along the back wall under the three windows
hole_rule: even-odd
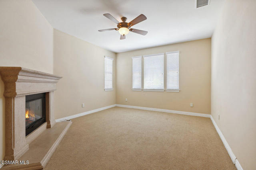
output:
[[[203,114],[203,113],[193,113],[193,112],[187,112],[187,111],[177,111],[177,110],[168,110],[168,109],[156,109],[156,108],[150,108],[150,107],[129,106],[129,105],[122,105],[122,104],[116,104],[116,106],[117,107],[133,108],[133,109],[161,111],[161,112],[166,112],[166,113],[176,113],[176,114],[182,114],[182,115],[191,115],[191,116],[201,116],[201,117],[210,117],[211,116],[209,114]]]

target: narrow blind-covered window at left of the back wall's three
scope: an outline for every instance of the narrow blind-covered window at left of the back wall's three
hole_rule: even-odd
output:
[[[141,90],[141,56],[132,57],[132,90]]]

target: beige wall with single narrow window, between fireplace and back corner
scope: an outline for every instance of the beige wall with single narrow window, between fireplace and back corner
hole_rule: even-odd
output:
[[[104,55],[113,61],[113,91],[104,91]],[[116,53],[54,29],[55,118],[116,104]],[[82,103],[85,107],[82,108]]]

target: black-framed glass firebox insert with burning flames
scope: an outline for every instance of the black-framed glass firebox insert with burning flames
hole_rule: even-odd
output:
[[[26,96],[26,136],[46,122],[45,93]]]

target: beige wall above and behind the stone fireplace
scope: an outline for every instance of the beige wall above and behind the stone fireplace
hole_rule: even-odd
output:
[[[53,29],[31,0],[0,1],[0,66],[53,72]],[[4,158],[4,83],[0,80],[0,160]]]

